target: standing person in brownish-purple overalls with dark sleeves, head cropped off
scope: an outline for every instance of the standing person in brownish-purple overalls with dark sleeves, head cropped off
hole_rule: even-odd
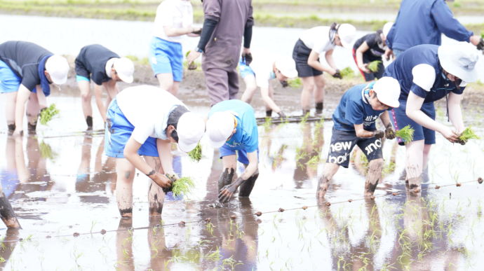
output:
[[[202,69],[210,104],[236,99],[238,93],[237,64],[241,53],[250,64],[252,39],[252,0],[203,1],[204,21],[199,45],[187,56],[190,64],[203,53]]]

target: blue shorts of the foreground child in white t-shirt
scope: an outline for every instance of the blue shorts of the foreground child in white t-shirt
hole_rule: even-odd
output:
[[[109,104],[106,120],[105,154],[109,157],[124,158],[124,146],[126,146],[135,127],[123,115],[121,109],[119,109],[116,98]],[[148,137],[137,151],[137,154],[159,157],[158,149],[156,148],[156,139],[154,137]]]

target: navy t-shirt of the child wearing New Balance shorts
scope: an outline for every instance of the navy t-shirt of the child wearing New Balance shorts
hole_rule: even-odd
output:
[[[355,132],[354,125],[363,124],[363,129],[374,131],[377,129],[375,121],[384,110],[373,110],[368,99],[369,91],[374,83],[355,85],[344,92],[332,121],[336,130]],[[365,95],[366,94],[366,95]]]

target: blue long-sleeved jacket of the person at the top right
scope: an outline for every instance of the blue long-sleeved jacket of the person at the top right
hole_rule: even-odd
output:
[[[445,0],[403,0],[387,43],[401,51],[420,44],[441,45],[442,34],[469,41],[473,33],[455,20]]]

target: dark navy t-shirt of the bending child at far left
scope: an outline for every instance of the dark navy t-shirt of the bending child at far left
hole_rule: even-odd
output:
[[[22,85],[35,90],[40,85],[39,62],[46,55],[52,55],[45,48],[27,41],[7,41],[0,44],[0,60],[22,78]]]

